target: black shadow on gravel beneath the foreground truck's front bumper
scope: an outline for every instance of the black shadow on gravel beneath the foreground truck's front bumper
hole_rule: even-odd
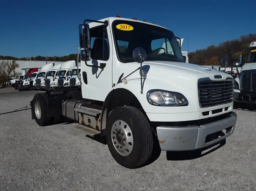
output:
[[[207,154],[210,154],[211,152],[216,151],[217,149],[221,148],[226,144],[226,139],[223,139],[217,143],[214,143],[213,145],[207,146],[202,149],[196,149],[193,151],[166,151],[166,159],[167,160],[192,160],[192,159],[198,159],[200,157],[203,157]],[[218,145],[217,147],[213,148],[214,146]],[[209,151],[206,151],[210,149]],[[206,151],[206,152],[204,152]],[[204,152],[202,154],[202,152]]]

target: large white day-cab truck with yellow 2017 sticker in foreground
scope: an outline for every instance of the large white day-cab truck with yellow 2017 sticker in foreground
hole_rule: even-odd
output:
[[[145,165],[154,140],[163,151],[187,151],[234,132],[234,79],[185,63],[169,29],[108,17],[84,20],[79,37],[81,87],[35,94],[31,117],[38,125],[72,119],[78,131],[105,137],[113,158],[126,168]],[[160,40],[170,43],[173,54],[154,53],[157,46],[163,49]]]

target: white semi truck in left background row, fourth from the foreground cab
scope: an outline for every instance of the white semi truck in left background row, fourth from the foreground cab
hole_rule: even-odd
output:
[[[44,80],[46,73],[54,67],[54,62],[43,65],[41,71],[37,75],[36,79],[33,80],[33,87],[31,89],[44,89]],[[32,82],[31,82],[32,83]]]

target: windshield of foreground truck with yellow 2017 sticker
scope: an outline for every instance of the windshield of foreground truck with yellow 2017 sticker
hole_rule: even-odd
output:
[[[168,29],[124,20],[115,20],[112,27],[118,59],[121,62],[134,62],[132,53],[137,47],[145,49],[146,61],[184,62],[176,37]]]

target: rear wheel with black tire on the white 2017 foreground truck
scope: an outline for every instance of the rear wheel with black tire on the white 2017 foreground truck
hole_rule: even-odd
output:
[[[36,123],[39,126],[48,126],[54,123],[54,117],[47,116],[47,95],[44,93],[37,93],[34,96],[31,112],[35,115]]]

